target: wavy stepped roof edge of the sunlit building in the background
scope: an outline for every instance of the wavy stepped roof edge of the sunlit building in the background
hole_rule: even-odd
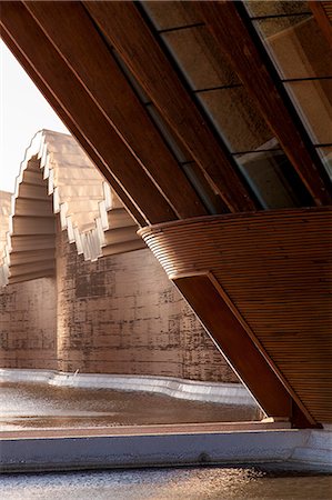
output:
[[[84,260],[145,247],[109,183],[66,133],[36,133],[14,193],[6,193],[1,207],[0,286],[54,273],[54,263],[46,261],[54,261],[57,213],[61,230]]]

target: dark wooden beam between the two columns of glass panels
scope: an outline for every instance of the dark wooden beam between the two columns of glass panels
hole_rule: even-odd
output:
[[[331,204],[332,187],[323,167],[305,147],[278,87],[251,34],[231,1],[194,2],[214,37],[217,48],[228,57],[239,78],[318,206]]]

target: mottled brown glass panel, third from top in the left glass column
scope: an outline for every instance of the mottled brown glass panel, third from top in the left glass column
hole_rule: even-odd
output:
[[[272,139],[242,87],[200,92],[198,98],[232,152],[252,151]]]

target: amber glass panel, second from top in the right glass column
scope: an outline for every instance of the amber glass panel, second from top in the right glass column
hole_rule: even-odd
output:
[[[312,16],[254,21],[283,79],[332,77],[332,50]]]

